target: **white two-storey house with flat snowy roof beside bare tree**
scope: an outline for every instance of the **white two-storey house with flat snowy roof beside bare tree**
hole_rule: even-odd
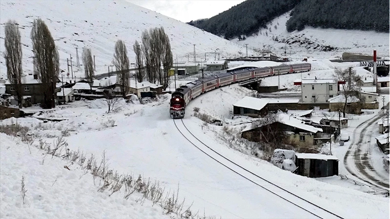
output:
[[[337,81],[335,79],[302,79],[302,102],[327,102],[337,96]]]

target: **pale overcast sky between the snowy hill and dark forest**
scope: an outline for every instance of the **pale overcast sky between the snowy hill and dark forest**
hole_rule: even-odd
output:
[[[245,0],[127,0],[170,18],[189,22],[211,18]]]

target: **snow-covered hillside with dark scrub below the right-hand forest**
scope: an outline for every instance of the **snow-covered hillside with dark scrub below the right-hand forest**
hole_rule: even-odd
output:
[[[232,41],[242,45],[248,43],[248,48],[251,49],[269,49],[278,56],[289,58],[300,59],[305,56],[317,59],[335,58],[341,57],[343,52],[372,55],[372,50],[377,50],[378,56],[389,57],[388,33],[313,27],[288,33],[286,22],[290,18],[289,14],[290,12],[287,12],[272,20],[267,28],[260,29],[257,34],[247,37],[246,40],[234,39]]]

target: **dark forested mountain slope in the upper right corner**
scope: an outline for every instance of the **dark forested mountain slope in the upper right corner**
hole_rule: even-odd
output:
[[[388,0],[302,0],[287,21],[287,30],[312,27],[375,30],[389,33]]]

